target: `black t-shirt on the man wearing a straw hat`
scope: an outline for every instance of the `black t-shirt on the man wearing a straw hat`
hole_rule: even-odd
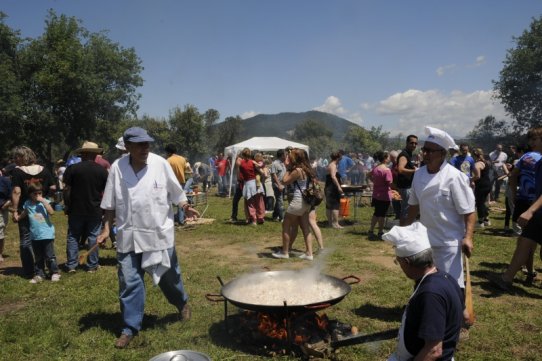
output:
[[[63,181],[70,187],[68,214],[71,216],[100,216],[107,171],[87,160],[66,168]]]

